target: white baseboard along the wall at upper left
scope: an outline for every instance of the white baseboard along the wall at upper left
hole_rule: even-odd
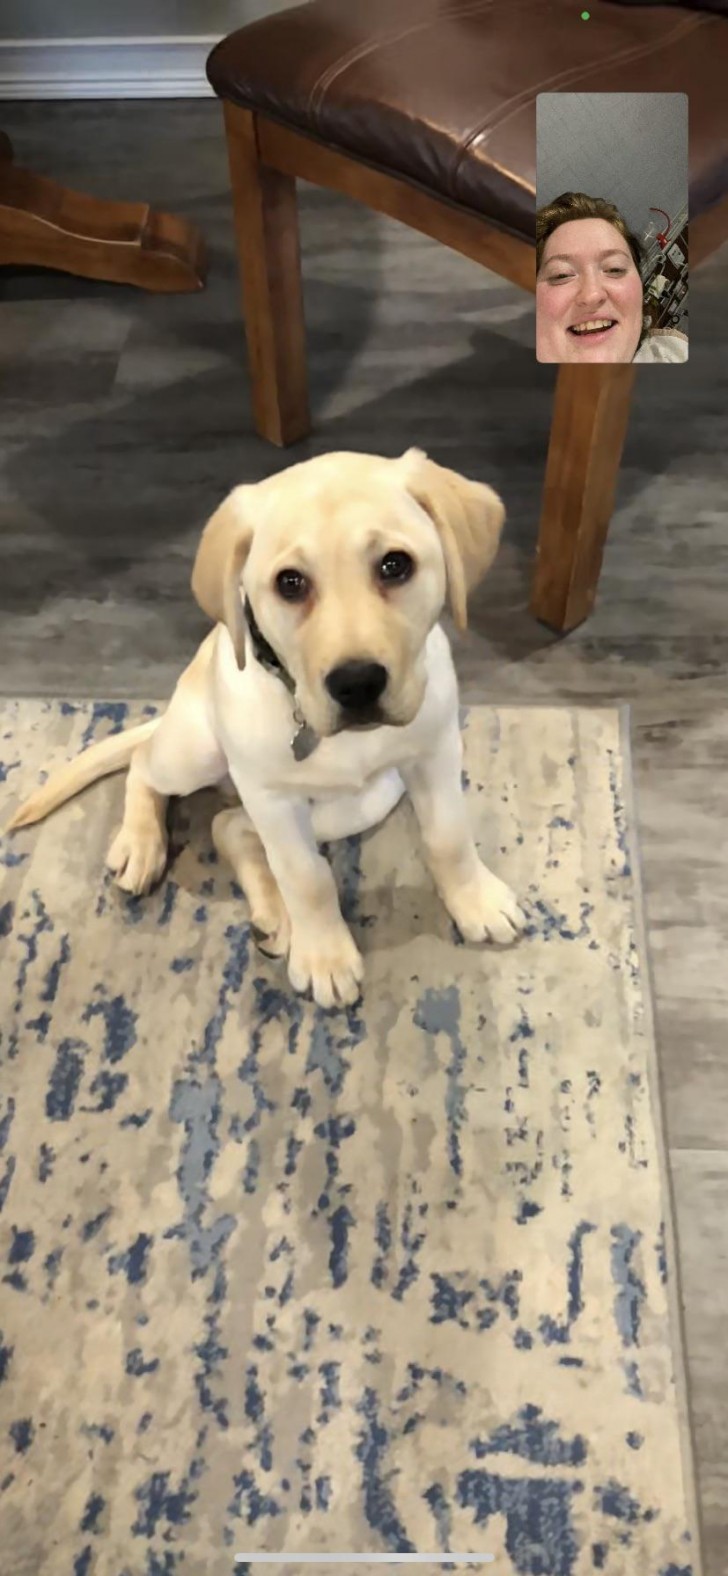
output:
[[[0,99],[208,98],[211,38],[0,38]]]

